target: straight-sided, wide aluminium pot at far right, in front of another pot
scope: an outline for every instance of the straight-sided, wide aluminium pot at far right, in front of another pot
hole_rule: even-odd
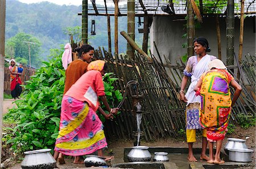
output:
[[[229,149],[229,160],[234,162],[251,162],[251,149]]]

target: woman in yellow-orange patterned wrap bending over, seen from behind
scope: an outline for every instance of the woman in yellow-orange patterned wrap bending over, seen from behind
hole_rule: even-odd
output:
[[[220,150],[228,127],[231,108],[241,94],[241,86],[234,80],[221,60],[213,60],[209,70],[201,75],[195,86],[196,95],[201,96],[200,122],[207,129],[210,164],[222,164]],[[236,91],[231,100],[229,86]],[[216,153],[213,154],[213,142],[216,142]]]

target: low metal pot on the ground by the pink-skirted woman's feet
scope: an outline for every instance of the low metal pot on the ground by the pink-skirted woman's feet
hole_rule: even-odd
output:
[[[98,167],[98,166],[108,166],[103,157],[98,155],[86,155],[84,160],[85,167]]]

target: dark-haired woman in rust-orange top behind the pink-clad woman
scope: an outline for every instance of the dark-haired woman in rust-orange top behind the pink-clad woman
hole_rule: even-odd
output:
[[[66,78],[63,95],[65,95],[69,88],[87,71],[87,66],[92,61],[94,55],[94,48],[91,45],[85,44],[81,47],[77,47],[75,52],[78,53],[79,58],[71,62],[65,71]],[[65,163],[64,155],[58,151],[54,152],[53,158],[55,158],[55,160],[58,159],[60,164]],[[80,157],[75,157],[74,163],[77,162],[80,162]]]

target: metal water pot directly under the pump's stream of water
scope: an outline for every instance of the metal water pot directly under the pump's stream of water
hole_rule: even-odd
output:
[[[128,153],[127,158],[129,162],[149,162],[151,154],[147,146],[134,146]]]

